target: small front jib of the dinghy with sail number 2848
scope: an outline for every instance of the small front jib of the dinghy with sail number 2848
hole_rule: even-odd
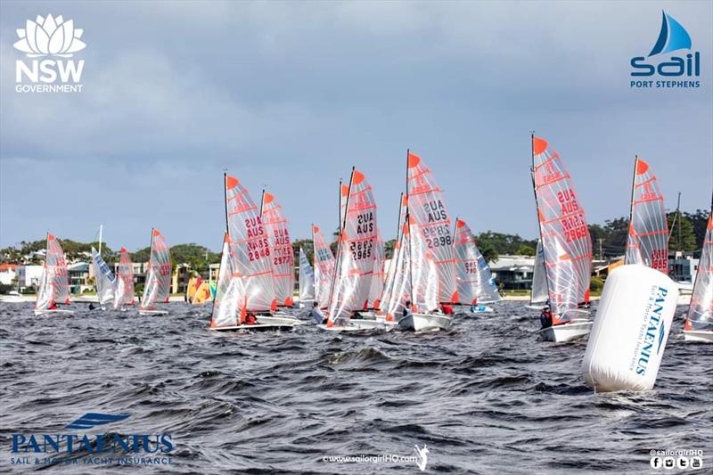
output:
[[[234,246],[230,236],[225,233],[223,252],[220,256],[220,268],[217,273],[216,299],[213,302],[213,314],[210,328],[236,326],[245,321],[247,315],[247,297],[242,286],[241,274],[234,270]],[[238,307],[241,307],[240,318]]]

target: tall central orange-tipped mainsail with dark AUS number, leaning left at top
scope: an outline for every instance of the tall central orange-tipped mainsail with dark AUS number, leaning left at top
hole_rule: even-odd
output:
[[[438,301],[457,302],[451,218],[430,168],[412,152],[408,152],[407,184],[409,213],[438,271]],[[411,231],[413,235],[414,226]]]

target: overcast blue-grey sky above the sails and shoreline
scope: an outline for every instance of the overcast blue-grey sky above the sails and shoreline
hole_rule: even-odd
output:
[[[701,53],[701,87],[632,89],[661,10]],[[83,92],[15,91],[16,29],[84,29]],[[633,160],[667,206],[713,190],[713,3],[0,3],[0,247],[44,239],[218,250],[223,171],[266,187],[293,239],[338,225],[352,166],[396,235],[406,149],[475,233],[537,236],[530,131],[569,168],[589,223],[628,214]],[[687,51],[677,52],[683,55]],[[674,54],[674,53],[672,53]],[[29,60],[27,60],[29,61]],[[655,77],[653,79],[661,79]]]

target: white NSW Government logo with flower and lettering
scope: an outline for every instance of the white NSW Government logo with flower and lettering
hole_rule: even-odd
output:
[[[80,93],[84,60],[70,59],[86,48],[79,38],[83,29],[61,15],[37,15],[17,29],[20,38],[13,46],[28,60],[15,61],[15,91],[18,93]]]

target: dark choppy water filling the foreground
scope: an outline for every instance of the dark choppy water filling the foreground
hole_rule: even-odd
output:
[[[680,315],[654,391],[594,395],[586,341],[537,340],[517,302],[423,335],[219,333],[208,309],[170,310],[35,317],[0,304],[0,471],[36,469],[10,465],[12,433],[68,432],[90,412],[131,414],[103,431],[171,434],[172,463],[51,471],[413,473],[323,456],[416,444],[428,472],[660,472],[649,451],[684,448],[713,466],[713,346],[684,343]]]

